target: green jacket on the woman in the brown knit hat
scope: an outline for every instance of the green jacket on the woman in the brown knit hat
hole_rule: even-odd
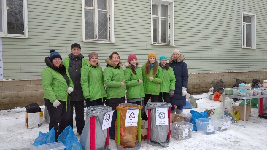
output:
[[[99,65],[100,63],[97,62],[97,64]],[[107,97],[104,87],[103,70],[100,66],[89,60],[81,69],[81,84],[85,98],[90,98],[93,101]]]

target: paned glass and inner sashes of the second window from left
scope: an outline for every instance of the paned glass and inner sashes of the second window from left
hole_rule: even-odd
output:
[[[85,0],[85,39],[109,41],[109,0]]]

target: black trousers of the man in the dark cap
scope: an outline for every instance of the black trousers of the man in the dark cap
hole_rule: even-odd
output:
[[[81,133],[83,127],[85,125],[84,121],[84,102],[81,101],[70,101],[70,117],[68,121],[68,125],[73,128],[73,106],[75,107],[75,121],[76,121],[76,129],[78,133]]]

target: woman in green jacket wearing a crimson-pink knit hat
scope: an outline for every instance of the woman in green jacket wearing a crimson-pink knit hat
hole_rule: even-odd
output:
[[[143,106],[141,109],[141,116],[145,113],[144,106],[144,86],[142,82],[142,72],[138,68],[137,57],[134,54],[128,56],[128,60],[124,63],[125,84],[126,84],[126,98],[127,103],[137,104]]]

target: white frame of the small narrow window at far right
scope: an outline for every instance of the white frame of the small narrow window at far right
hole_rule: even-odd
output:
[[[243,22],[243,16],[251,17],[251,23]],[[243,32],[244,31],[244,28],[243,28],[244,24],[251,24],[251,31],[250,31],[250,33],[251,33],[251,37],[250,37],[251,47],[246,47],[245,45],[243,45],[243,43],[246,43],[246,41],[243,40],[243,39],[245,39],[245,38],[243,38],[244,37],[244,32]],[[256,14],[242,12],[242,48],[251,48],[251,49],[256,48]]]

